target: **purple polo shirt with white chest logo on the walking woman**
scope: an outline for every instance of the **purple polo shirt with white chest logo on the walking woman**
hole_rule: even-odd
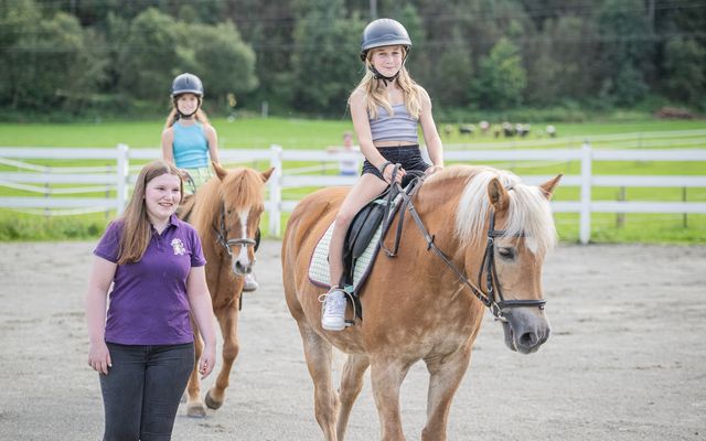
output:
[[[122,222],[108,225],[94,254],[117,262]],[[106,342],[162,345],[193,342],[186,278],[206,265],[196,230],[172,215],[162,232],[152,228],[142,259],[118,265],[106,321]]]

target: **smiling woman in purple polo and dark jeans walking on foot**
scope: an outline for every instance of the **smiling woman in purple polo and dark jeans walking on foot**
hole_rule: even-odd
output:
[[[215,364],[201,241],[174,215],[182,195],[174,165],[147,164],[125,214],[94,250],[86,295],[88,364],[100,374],[104,440],[171,438],[194,367],[190,312],[204,341],[199,372],[205,377]]]

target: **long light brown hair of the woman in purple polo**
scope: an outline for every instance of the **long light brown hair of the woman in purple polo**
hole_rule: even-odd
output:
[[[119,217],[122,220],[122,233],[120,235],[118,265],[135,263],[145,256],[147,246],[152,237],[150,219],[147,216],[147,207],[145,205],[145,192],[148,182],[162,174],[178,176],[179,192],[181,196],[184,195],[184,184],[181,181],[179,170],[173,164],[157,160],[140,170],[130,202],[128,202],[122,216]]]

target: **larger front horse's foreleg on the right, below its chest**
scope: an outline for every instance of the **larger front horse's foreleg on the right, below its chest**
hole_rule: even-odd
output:
[[[429,370],[427,394],[427,424],[421,431],[422,441],[446,440],[451,400],[471,362],[471,345],[446,356],[425,361]]]

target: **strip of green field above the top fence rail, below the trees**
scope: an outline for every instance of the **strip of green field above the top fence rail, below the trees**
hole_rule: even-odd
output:
[[[279,144],[291,149],[321,149],[341,142],[345,130],[352,130],[350,118],[341,120],[302,119],[225,119],[212,120],[225,149],[263,149]],[[125,143],[131,148],[159,147],[164,121],[104,122],[94,125],[18,125],[0,123],[0,147],[115,147]],[[445,126],[445,125],[440,125]],[[534,131],[546,125],[533,125]],[[634,122],[555,123],[559,138],[576,138],[650,131],[706,129],[706,121],[660,121],[645,119]],[[459,135],[452,126],[448,143],[502,142],[492,137],[469,138]],[[443,135],[443,133],[442,133]],[[533,136],[531,135],[531,139]]]

